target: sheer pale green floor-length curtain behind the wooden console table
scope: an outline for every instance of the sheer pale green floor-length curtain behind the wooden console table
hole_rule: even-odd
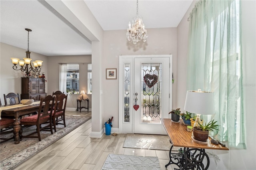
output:
[[[240,43],[240,1],[201,0],[190,13],[187,90],[214,92],[217,138],[246,148]]]

